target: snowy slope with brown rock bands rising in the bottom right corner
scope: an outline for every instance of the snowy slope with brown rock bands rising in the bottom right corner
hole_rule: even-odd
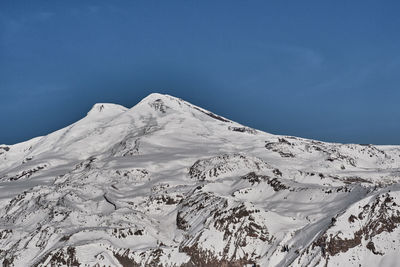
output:
[[[400,242],[399,197],[398,191],[378,193],[351,205],[332,219],[328,229],[304,252],[298,263],[318,261],[334,265],[346,255],[349,265],[358,266],[361,262],[382,265],[390,253],[397,251]],[[360,251],[368,253],[361,255]]]

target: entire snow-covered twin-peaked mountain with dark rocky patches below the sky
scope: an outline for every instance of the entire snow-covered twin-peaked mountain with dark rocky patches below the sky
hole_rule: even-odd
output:
[[[0,145],[3,266],[396,266],[400,147],[242,126],[167,95]]]

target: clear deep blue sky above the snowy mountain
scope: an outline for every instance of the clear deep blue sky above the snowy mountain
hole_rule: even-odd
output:
[[[0,144],[151,92],[267,132],[400,144],[399,1],[0,1]]]

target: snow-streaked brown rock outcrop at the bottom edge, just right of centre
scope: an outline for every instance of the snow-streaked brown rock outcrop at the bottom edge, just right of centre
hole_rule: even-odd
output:
[[[198,191],[177,214],[178,228],[188,233],[180,249],[195,266],[255,264],[273,240],[265,215],[247,203]]]

